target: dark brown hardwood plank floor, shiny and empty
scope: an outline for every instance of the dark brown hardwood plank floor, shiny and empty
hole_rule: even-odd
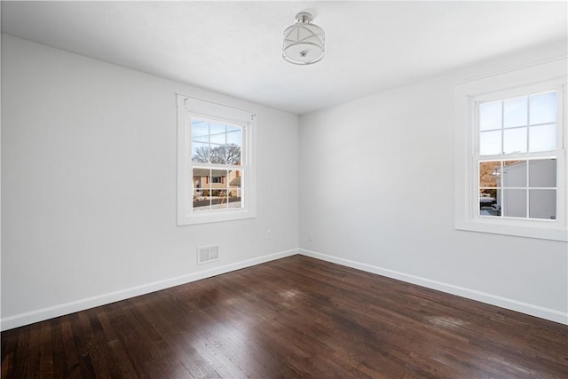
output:
[[[5,378],[568,378],[568,327],[294,256],[2,333]]]

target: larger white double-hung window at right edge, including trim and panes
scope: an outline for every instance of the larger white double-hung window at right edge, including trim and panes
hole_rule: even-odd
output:
[[[568,241],[565,60],[456,86],[455,225]]]

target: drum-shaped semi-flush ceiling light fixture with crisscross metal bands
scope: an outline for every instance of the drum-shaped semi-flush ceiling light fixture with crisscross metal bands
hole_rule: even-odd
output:
[[[311,65],[323,58],[326,34],[312,20],[310,13],[296,14],[296,24],[284,30],[282,58],[296,65]]]

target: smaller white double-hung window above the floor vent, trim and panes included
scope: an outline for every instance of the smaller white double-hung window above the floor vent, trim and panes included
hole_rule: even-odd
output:
[[[177,95],[177,225],[256,217],[256,114]]]

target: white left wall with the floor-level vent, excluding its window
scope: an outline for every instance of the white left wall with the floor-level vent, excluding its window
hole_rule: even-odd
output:
[[[176,92],[258,114],[255,219],[176,225]],[[4,329],[296,253],[294,114],[4,35],[2,109]]]

